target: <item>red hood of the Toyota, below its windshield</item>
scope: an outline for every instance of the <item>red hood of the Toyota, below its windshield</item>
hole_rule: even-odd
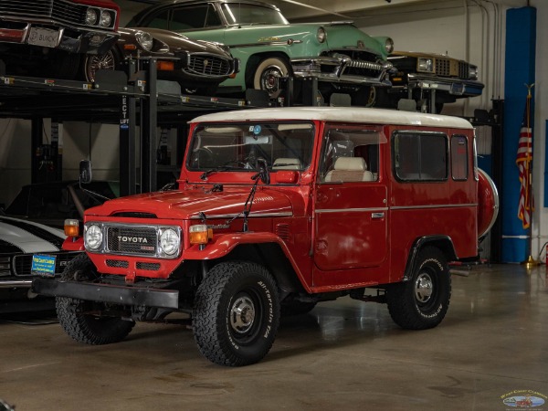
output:
[[[207,187],[193,187],[178,191],[166,191],[131,195],[107,201],[105,204],[86,210],[89,216],[115,216],[123,213],[147,213],[163,219],[189,219],[198,216],[226,217],[235,216],[244,210],[251,187],[225,188],[222,192],[211,192]],[[255,194],[250,216],[270,215],[272,213],[292,213],[287,195],[260,186]]]

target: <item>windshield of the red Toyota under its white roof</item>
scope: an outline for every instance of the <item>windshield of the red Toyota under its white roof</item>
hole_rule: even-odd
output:
[[[257,159],[269,169],[305,170],[311,163],[314,126],[310,122],[202,124],[186,160],[191,171],[252,171]]]

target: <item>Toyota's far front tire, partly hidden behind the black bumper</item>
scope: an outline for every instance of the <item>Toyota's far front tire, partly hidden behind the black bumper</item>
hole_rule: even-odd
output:
[[[74,258],[63,271],[62,280],[93,279],[97,276],[95,266],[85,254]],[[120,342],[135,325],[134,321],[119,317],[100,317],[86,312],[106,311],[104,303],[88,300],[56,297],[58,321],[68,336],[77,342],[91,345]]]

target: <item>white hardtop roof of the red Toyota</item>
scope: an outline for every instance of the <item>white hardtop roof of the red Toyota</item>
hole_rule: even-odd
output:
[[[278,120],[365,122],[370,124],[448,127],[455,129],[473,128],[469,121],[459,117],[365,107],[278,107],[273,109],[219,111],[196,117],[190,122]]]

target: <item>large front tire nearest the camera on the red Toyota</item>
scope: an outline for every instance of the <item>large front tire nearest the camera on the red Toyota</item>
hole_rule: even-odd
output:
[[[219,263],[198,287],[193,310],[195,341],[212,363],[258,363],[269,353],[278,326],[276,281],[258,264]]]

